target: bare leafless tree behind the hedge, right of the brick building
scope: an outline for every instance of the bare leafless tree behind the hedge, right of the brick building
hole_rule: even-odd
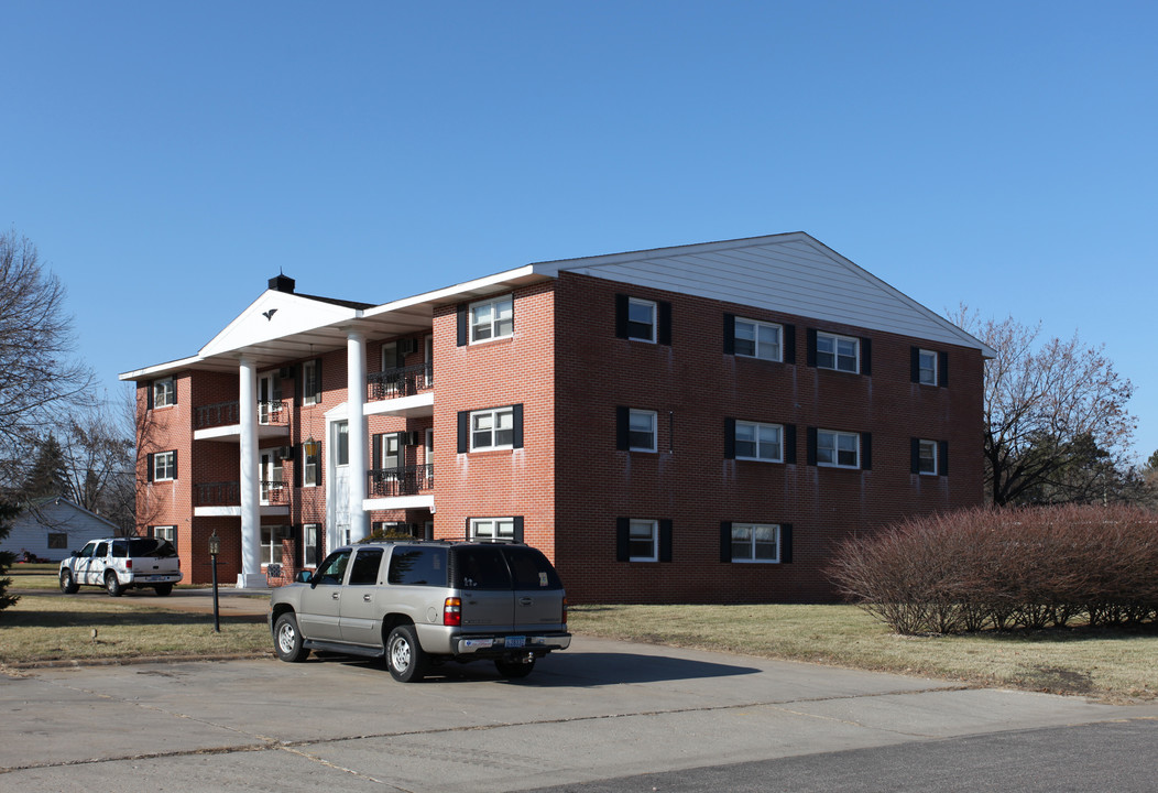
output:
[[[1105,345],[1039,342],[1040,323],[981,321],[965,306],[952,318],[996,350],[985,362],[985,486],[997,505],[1082,501],[1101,493],[1109,471],[1128,468],[1136,420],[1134,385],[1114,371]],[[1083,465],[1095,460],[1097,465]],[[1101,478],[1098,482],[1086,481]],[[1099,487],[1100,482],[1100,487]],[[1045,494],[1045,495],[1043,495]]]

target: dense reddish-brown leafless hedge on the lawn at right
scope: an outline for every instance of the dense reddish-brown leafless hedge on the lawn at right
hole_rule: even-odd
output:
[[[1158,620],[1158,516],[1131,507],[977,509],[846,541],[830,576],[897,633]]]

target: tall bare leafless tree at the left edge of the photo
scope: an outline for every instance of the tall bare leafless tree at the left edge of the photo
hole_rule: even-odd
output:
[[[0,474],[19,481],[28,452],[64,407],[93,384],[73,359],[65,289],[42,267],[36,246],[0,234]]]

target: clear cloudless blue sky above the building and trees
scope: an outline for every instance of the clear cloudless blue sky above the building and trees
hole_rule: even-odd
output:
[[[1158,3],[0,5],[0,227],[119,372],[284,270],[384,303],[806,231],[1105,343],[1158,449]]]

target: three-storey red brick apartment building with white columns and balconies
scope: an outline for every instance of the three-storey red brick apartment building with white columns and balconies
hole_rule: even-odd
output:
[[[507,537],[573,602],[831,597],[835,544],[982,501],[992,351],[804,233],[393,303],[278,276],[138,393],[138,522],[265,585],[373,529]],[[277,575],[280,567],[280,576]]]

